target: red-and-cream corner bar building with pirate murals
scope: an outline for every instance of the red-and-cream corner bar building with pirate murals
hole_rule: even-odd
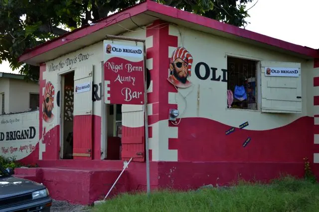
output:
[[[134,39],[146,41],[145,83]],[[130,158],[112,192],[146,190],[147,153],[152,189],[301,177],[305,156],[318,176],[318,59],[315,49],[141,2],[21,55],[40,66],[44,109],[39,167],[16,174],[81,204],[105,195]],[[116,84],[128,70],[120,62],[135,68]],[[121,84],[138,91],[117,95]],[[134,104],[112,104],[121,94]]]

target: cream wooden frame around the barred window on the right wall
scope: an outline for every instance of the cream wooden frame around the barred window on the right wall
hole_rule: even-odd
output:
[[[228,57],[232,58],[238,58],[238,59],[243,59],[243,60],[251,60],[256,62],[256,102],[257,102],[257,109],[241,109],[241,108],[228,108],[227,104],[227,85],[228,85],[228,77],[227,77],[227,85],[226,85],[226,90],[225,90],[225,108],[226,110],[238,110],[238,111],[249,111],[249,112],[259,112],[261,113],[261,61],[263,61],[262,58],[258,57],[251,57],[247,55],[240,55],[240,54],[233,54],[233,53],[225,53],[225,66],[226,69],[228,69]]]

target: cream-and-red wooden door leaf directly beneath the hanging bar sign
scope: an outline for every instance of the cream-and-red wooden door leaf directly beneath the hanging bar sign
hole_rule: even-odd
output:
[[[143,105],[122,105],[122,160],[145,161]]]

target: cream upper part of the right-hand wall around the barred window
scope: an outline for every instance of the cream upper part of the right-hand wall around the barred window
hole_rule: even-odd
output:
[[[206,34],[190,29],[181,30],[182,36],[179,35],[178,29],[170,25],[169,34],[178,36],[178,43],[183,43],[184,47],[193,57],[193,65],[190,80],[193,86],[189,88],[179,88],[179,93],[170,93],[170,103],[178,103],[180,114],[185,117],[203,117],[212,119],[223,124],[238,127],[240,124],[248,121],[249,130],[269,130],[287,125],[302,116],[312,116],[312,83],[313,79],[312,61],[306,61],[301,58],[292,57],[279,52],[262,49],[256,46],[240,43]],[[175,48],[169,48],[169,55]],[[297,62],[301,63],[302,74],[302,107],[301,114],[278,114],[278,113],[261,113],[256,110],[227,109],[227,83],[221,81],[211,81],[209,77],[206,80],[200,80],[194,73],[195,65],[199,62],[208,64],[209,67],[217,68],[216,75],[222,75],[221,69],[227,69],[226,55],[252,58],[263,61],[277,62]],[[202,69],[201,69],[202,70]],[[202,74],[204,74],[202,70]],[[199,102],[197,102],[197,93],[199,93]],[[186,104],[182,96],[187,95]],[[186,109],[185,109],[186,108]]]

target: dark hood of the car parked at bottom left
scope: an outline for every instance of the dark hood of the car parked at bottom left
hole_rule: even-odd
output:
[[[18,177],[0,178],[0,199],[45,189],[45,186]]]

